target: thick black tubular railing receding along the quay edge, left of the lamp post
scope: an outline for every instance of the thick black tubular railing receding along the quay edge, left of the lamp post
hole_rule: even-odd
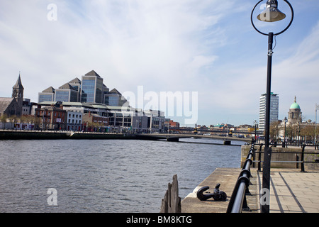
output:
[[[254,144],[250,148],[245,164],[237,179],[233,194],[228,204],[227,213],[241,213],[243,211],[250,211],[247,205],[246,195],[250,194],[248,187],[250,186],[250,166],[252,165],[252,157],[254,155]]]

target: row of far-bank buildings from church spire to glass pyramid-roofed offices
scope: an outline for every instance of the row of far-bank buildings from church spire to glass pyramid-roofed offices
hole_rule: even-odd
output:
[[[162,111],[129,106],[122,94],[117,89],[110,91],[94,70],[82,79],[39,92],[37,103],[23,99],[23,90],[19,74],[11,98],[0,98],[2,128],[162,133],[169,130],[169,124],[176,126]],[[20,117],[19,121],[9,120],[11,116]]]

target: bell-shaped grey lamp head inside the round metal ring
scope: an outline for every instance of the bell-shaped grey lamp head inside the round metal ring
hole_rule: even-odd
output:
[[[286,15],[278,9],[277,0],[268,0],[266,9],[257,16],[259,21],[265,22],[281,21],[284,18],[286,18]]]

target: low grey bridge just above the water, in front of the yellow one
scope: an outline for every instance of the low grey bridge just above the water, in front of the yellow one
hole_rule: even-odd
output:
[[[167,140],[178,142],[181,138],[209,138],[214,140],[223,140],[224,145],[230,145],[231,141],[251,142],[252,138],[237,138],[232,136],[220,135],[198,135],[198,134],[167,134],[167,133],[152,133],[152,134],[135,134],[135,138],[141,140]]]

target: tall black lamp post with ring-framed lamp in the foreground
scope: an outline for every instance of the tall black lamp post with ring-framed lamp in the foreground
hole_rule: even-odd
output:
[[[255,6],[254,9],[264,0],[260,0]],[[273,42],[274,36],[280,35],[284,33],[290,26],[293,21],[293,8],[289,1],[284,0],[286,4],[289,5],[291,9],[291,21],[289,25],[279,33],[272,33],[269,32],[263,33],[259,31],[256,26],[254,26],[254,21],[252,19],[252,15],[254,13],[254,9],[252,9],[251,14],[251,22],[254,29],[261,33],[262,35],[268,36],[268,65],[267,65],[267,93],[266,93],[266,119],[265,119],[265,148],[264,148],[264,162],[263,162],[263,169],[262,169],[262,192],[264,193],[263,198],[265,201],[261,201],[262,204],[262,213],[269,213],[269,194],[270,194],[270,161],[272,157],[272,150],[269,148],[269,128],[270,128],[270,97],[271,97],[271,84],[272,84],[272,54],[274,53],[273,50]],[[257,16],[259,21],[264,22],[275,22],[281,21],[286,18],[286,15],[279,11],[278,9],[278,1],[277,0],[268,0],[266,3],[266,9]]]

